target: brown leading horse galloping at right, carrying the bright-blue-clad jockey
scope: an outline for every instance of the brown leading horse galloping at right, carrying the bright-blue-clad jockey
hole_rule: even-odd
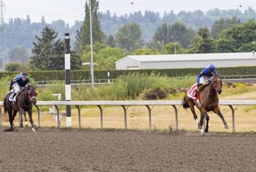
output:
[[[208,111],[214,111],[214,113],[217,114],[223,121],[224,127],[228,129],[227,122],[219,109],[218,94],[221,94],[222,92],[221,76],[213,76],[211,82],[208,85],[203,85],[202,87],[203,89],[201,89],[201,91],[199,92],[199,101],[201,105],[199,105],[195,99],[190,98],[187,92],[187,94],[183,98],[183,108],[187,109],[188,107],[190,107],[190,110],[194,115],[194,120],[196,120],[198,128],[201,129],[201,135],[203,135],[204,132],[208,132],[208,122],[210,120],[207,114]],[[196,107],[199,109],[201,113],[200,122],[197,120],[194,105],[196,105]],[[206,119],[205,130],[203,130],[204,118]]]

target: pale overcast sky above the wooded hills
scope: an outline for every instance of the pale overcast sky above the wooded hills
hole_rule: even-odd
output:
[[[23,18],[30,16],[31,21],[41,21],[44,16],[46,23],[63,19],[65,23],[71,26],[75,21],[84,19],[84,4],[86,0],[3,0],[6,5],[4,8],[4,21],[8,22],[10,18]],[[131,2],[134,4],[131,5]],[[249,6],[256,10],[256,0],[100,0],[99,11],[111,14],[129,14],[130,12],[145,12],[152,10],[154,12],[178,13],[181,10],[203,12],[219,8],[221,10],[239,9],[242,12]],[[241,7],[240,7],[241,5]]]

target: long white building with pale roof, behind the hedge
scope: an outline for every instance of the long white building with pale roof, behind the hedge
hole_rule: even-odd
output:
[[[201,68],[209,63],[216,67],[253,66],[256,56],[255,52],[134,55],[116,61],[116,69]]]

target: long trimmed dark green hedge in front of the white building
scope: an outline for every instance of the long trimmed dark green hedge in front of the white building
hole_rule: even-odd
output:
[[[138,70],[111,70],[110,78],[115,79],[120,75],[127,75],[129,73],[139,72],[151,74],[163,74],[170,77],[178,76],[196,76],[201,72],[202,68],[184,68],[184,69],[138,69]],[[223,76],[228,75],[256,75],[256,66],[249,67],[219,67],[217,68],[219,74]],[[5,76],[16,76],[19,72],[0,72],[0,78]],[[65,80],[65,71],[30,71],[28,75],[35,81],[42,80]],[[95,71],[94,79],[107,79],[107,71]],[[71,71],[71,80],[89,80],[91,79],[90,71],[74,70]]]

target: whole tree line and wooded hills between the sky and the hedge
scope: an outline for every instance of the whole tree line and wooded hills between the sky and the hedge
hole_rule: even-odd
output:
[[[134,12],[117,17],[116,14],[111,16],[109,11],[98,12],[98,3],[91,1],[93,56],[94,63],[98,63],[95,69],[115,69],[115,61],[127,54],[251,52],[256,49],[255,10],[252,8],[244,13],[218,9],[205,14],[200,10],[179,14],[171,11],[160,18],[157,12],[145,11],[144,16]],[[71,32],[71,68],[89,69],[82,66],[82,62],[90,62],[91,56],[88,1],[84,10],[84,21],[77,21],[72,28],[62,20],[47,24],[44,17],[41,23],[31,23],[29,17],[11,19],[6,25],[9,27],[6,45],[10,48],[8,60],[12,63],[6,64],[6,70],[64,69],[66,30]],[[212,21],[214,17],[216,20]],[[0,49],[3,52],[3,46]]]

